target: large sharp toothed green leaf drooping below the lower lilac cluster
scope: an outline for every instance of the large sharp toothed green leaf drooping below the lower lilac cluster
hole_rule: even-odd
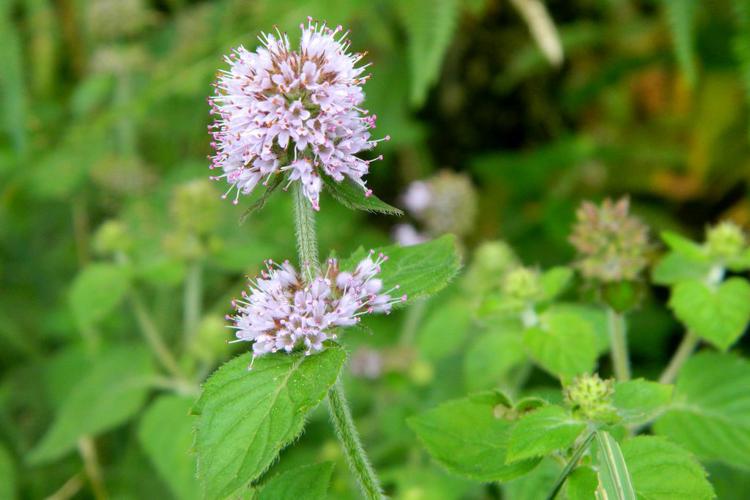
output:
[[[325,397],[346,355],[339,346],[320,354],[239,356],[206,382],[194,407],[198,477],[204,496],[223,498],[254,481],[301,432]]]

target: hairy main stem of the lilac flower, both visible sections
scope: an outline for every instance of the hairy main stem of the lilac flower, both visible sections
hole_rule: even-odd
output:
[[[294,225],[297,233],[297,251],[306,281],[310,282],[320,270],[318,240],[315,235],[315,213],[302,192],[302,186],[299,183],[297,184],[294,190]],[[337,381],[328,391],[328,410],[336,429],[336,436],[338,436],[341,446],[344,448],[349,469],[357,479],[362,494],[368,500],[384,499],[380,481],[367,459],[367,454],[359,439],[359,433],[354,426],[354,420],[349,411],[341,381]]]

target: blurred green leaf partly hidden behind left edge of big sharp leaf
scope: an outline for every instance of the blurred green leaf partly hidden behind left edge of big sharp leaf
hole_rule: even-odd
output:
[[[138,426],[138,441],[175,498],[199,498],[195,476],[193,398],[161,396],[146,410]]]

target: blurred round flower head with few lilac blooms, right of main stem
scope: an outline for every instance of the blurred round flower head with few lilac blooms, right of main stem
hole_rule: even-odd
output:
[[[478,200],[471,179],[443,170],[426,181],[412,182],[403,196],[406,210],[422,225],[417,231],[410,224],[394,228],[394,239],[403,246],[422,243],[444,233],[466,236],[474,228]]]

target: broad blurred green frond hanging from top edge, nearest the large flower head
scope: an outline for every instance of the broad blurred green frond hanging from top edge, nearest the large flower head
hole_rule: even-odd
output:
[[[411,103],[419,107],[440,74],[443,56],[453,38],[460,2],[414,0],[399,6],[408,36]]]

